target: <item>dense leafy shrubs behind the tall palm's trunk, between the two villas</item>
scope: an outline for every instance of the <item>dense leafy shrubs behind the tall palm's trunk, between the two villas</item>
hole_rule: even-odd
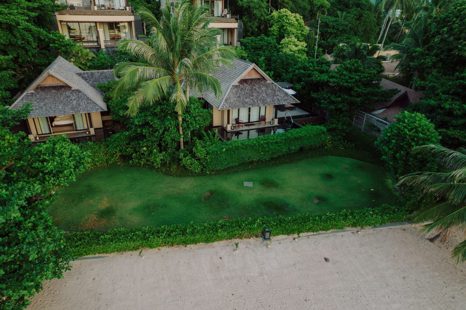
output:
[[[115,81],[99,84],[98,87],[110,94]],[[157,101],[152,106],[139,108],[136,115],[126,115],[126,93],[118,98],[105,96],[110,108],[110,115],[115,121],[122,122],[126,129],[107,139],[110,151],[117,151],[133,164],[147,164],[158,168],[163,162],[170,162],[177,152],[179,139],[178,118],[172,112],[169,101]],[[204,101],[190,98],[189,105],[183,113],[183,128],[188,137],[200,135],[204,127],[211,121],[212,111],[205,109]]]

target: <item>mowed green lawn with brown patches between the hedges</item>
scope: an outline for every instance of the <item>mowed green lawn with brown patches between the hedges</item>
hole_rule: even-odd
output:
[[[384,184],[385,173],[383,167],[334,156],[199,177],[108,166],[61,189],[49,212],[64,230],[335,212],[396,202]]]

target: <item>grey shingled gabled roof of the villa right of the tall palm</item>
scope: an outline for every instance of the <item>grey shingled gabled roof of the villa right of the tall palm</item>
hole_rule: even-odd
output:
[[[243,79],[252,69],[255,69],[260,77]],[[299,103],[252,62],[237,58],[232,67],[220,68],[212,75],[220,82],[222,96],[215,97],[210,91],[190,92],[190,96],[203,98],[218,110]]]

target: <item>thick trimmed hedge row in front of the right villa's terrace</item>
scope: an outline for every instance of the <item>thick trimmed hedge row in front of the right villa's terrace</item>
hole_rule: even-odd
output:
[[[216,143],[206,148],[194,148],[194,151],[207,170],[220,170],[245,162],[265,161],[301,148],[320,147],[327,136],[322,126],[305,126],[277,135]]]

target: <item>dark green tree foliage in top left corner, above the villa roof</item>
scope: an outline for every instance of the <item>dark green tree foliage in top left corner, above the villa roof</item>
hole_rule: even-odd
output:
[[[0,100],[27,87],[55,59],[51,48],[64,53],[75,46],[50,30],[52,16],[63,7],[50,0],[0,2]]]

